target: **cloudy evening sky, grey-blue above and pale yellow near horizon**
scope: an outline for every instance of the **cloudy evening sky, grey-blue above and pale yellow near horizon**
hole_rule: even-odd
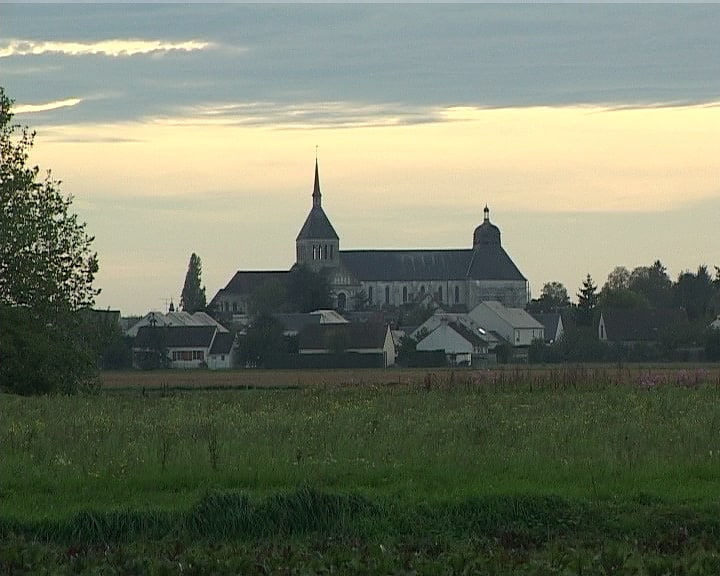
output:
[[[99,308],[341,249],[469,248],[533,297],[720,265],[720,5],[0,4],[0,86],[95,237]]]

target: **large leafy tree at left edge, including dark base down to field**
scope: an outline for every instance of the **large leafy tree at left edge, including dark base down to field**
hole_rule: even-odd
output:
[[[35,133],[12,104],[0,87],[0,388],[72,392],[97,370],[77,314],[99,292],[97,253],[72,197],[28,165]]]

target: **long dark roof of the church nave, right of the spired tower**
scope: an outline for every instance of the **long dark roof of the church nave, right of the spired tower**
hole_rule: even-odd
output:
[[[341,250],[340,262],[358,280],[525,280],[498,245],[449,250]]]

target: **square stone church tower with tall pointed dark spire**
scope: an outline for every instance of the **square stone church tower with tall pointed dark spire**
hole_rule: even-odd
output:
[[[340,238],[322,209],[317,158],[312,201],[310,213],[295,239],[296,265],[305,265],[314,271],[328,267],[336,268],[340,265]]]

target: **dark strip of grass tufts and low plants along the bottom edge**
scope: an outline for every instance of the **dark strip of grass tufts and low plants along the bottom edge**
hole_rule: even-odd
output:
[[[187,513],[0,524],[0,573],[716,574],[718,507],[547,497],[373,503],[303,488]]]

